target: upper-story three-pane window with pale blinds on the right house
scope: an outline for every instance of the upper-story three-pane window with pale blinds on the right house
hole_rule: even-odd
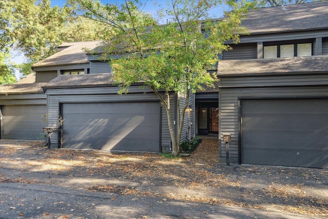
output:
[[[263,58],[311,56],[312,43],[294,43],[263,46]]]

